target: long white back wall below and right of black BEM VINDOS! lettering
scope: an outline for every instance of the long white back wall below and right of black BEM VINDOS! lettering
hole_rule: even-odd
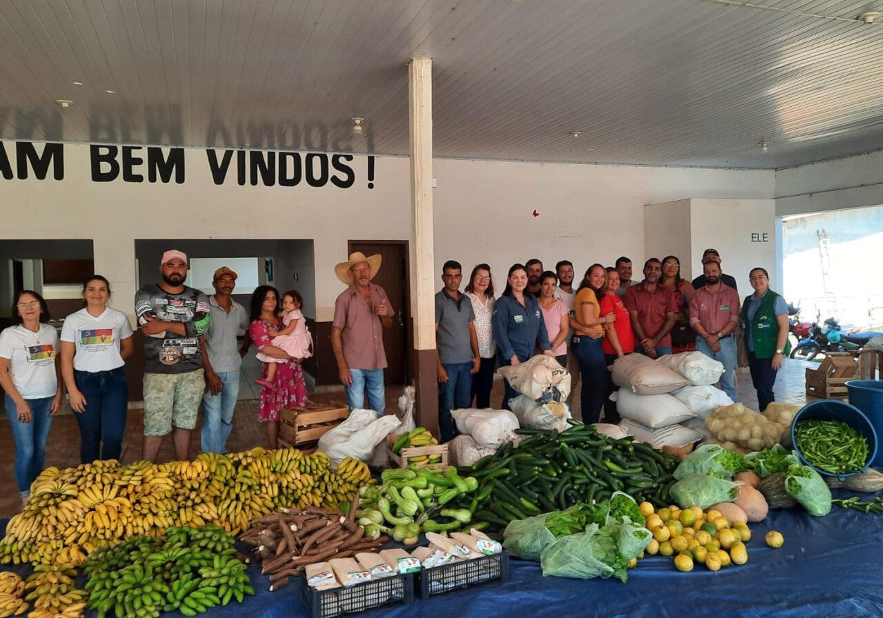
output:
[[[317,320],[331,319],[343,290],[333,268],[345,259],[348,239],[411,238],[406,158],[377,158],[368,189],[366,157],[356,157],[356,184],[339,189],[239,186],[235,171],[215,185],[204,150],[187,149],[185,156],[183,185],[96,184],[87,145],[67,144],[64,180],[0,180],[0,238],[94,239],[95,268],[114,283],[114,305],[127,313],[135,292],[134,238],[313,238]],[[531,257],[547,267],[569,259],[577,270],[621,254],[642,262],[646,204],[774,196],[772,171],[437,159],[434,176],[436,270],[451,258],[466,270],[488,261],[500,290],[509,265]]]

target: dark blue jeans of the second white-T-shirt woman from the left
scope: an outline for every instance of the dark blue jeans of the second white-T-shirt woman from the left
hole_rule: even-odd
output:
[[[86,397],[86,411],[74,412],[79,425],[79,461],[119,459],[123,450],[125,419],[129,408],[129,382],[125,369],[74,371],[73,381]]]

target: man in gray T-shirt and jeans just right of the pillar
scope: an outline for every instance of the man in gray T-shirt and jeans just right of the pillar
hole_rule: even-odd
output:
[[[439,380],[439,430],[442,442],[457,436],[450,411],[472,403],[472,374],[481,365],[472,300],[460,293],[463,268],[454,260],[442,268],[444,287],[435,295],[435,349]]]

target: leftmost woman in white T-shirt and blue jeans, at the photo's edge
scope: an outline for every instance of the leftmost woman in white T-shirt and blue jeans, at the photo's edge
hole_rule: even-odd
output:
[[[12,303],[15,325],[0,333],[0,386],[15,440],[15,480],[27,504],[31,483],[43,470],[52,416],[61,408],[58,334],[42,296],[22,290]]]

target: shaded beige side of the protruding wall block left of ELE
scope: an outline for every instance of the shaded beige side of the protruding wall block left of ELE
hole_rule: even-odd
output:
[[[691,275],[691,200],[669,201],[644,207],[644,237],[646,255],[662,260],[667,255],[676,255],[681,260],[681,276],[692,279]],[[643,261],[632,265],[632,276],[641,279]]]

